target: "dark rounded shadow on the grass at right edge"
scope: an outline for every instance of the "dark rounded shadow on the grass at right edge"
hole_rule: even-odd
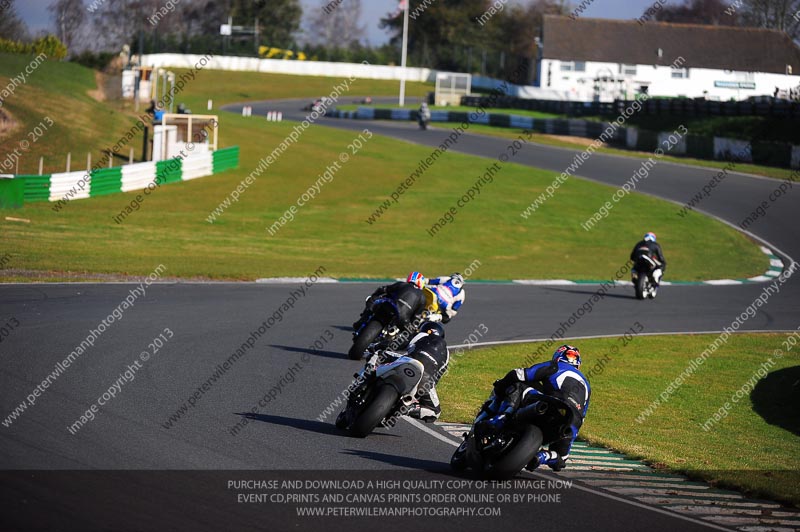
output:
[[[800,366],[773,371],[758,381],[750,394],[753,411],[770,425],[800,436]]]

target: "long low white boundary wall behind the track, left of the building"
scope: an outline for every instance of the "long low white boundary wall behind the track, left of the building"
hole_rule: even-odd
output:
[[[204,57],[191,54],[150,54],[142,56],[142,64],[152,67],[195,68]],[[256,57],[213,56],[204,67],[211,70],[270,72],[298,76],[329,76],[336,78],[400,80],[402,69],[397,66],[362,63],[330,63],[327,61],[294,61],[258,59]],[[435,81],[436,71],[429,68],[406,68],[407,81]]]

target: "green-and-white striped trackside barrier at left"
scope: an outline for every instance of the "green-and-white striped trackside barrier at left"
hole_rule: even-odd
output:
[[[117,168],[18,175],[0,178],[0,208],[21,207],[24,202],[71,201],[218,174],[239,166],[239,147],[198,153],[167,161],[129,164]],[[21,194],[21,198],[20,198]],[[23,201],[20,201],[22,199]]]

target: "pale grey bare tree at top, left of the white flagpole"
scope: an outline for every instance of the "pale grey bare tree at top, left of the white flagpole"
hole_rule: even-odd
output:
[[[345,48],[364,38],[361,0],[321,0],[309,17],[307,40],[331,48]]]

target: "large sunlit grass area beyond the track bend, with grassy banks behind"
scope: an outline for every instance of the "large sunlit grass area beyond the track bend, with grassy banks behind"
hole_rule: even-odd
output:
[[[3,74],[12,75],[4,68]],[[48,84],[50,68],[73,81]],[[19,118],[17,131],[24,131],[27,123],[36,123],[45,113],[53,115],[56,123],[69,123],[74,100],[87,106],[89,116],[102,111],[122,127],[133,123],[130,116],[84,96],[94,87],[88,70],[47,64],[37,75],[7,104],[15,116],[22,115],[20,109],[30,113],[24,121]],[[202,76],[222,81],[211,83]],[[337,82],[204,71],[178,100],[197,108],[208,98],[219,105],[241,99],[313,97],[330,92]],[[372,83],[373,94],[394,89],[393,83]],[[414,90],[423,91],[424,87]],[[49,108],[37,114],[33,110],[37,101],[46,101]],[[85,135],[54,134],[51,138],[48,134],[42,140],[60,147],[48,149],[66,150],[73,141],[84,149],[100,149],[115,142],[116,131],[95,130],[93,136],[88,129],[94,122],[86,117],[81,120],[87,128]],[[386,277],[409,268],[463,269],[478,259],[482,265],[476,279],[607,279],[627,260],[630,247],[645,230],[659,233],[670,258],[672,280],[747,277],[767,267],[766,257],[740,233],[698,214],[677,217],[674,205],[638,194],[625,198],[613,215],[591,235],[586,234],[580,222],[610,198],[614,189],[578,179],[568,181],[557,198],[524,220],[520,213],[552,182],[554,174],[514,164],[504,165],[494,182],[431,238],[427,229],[491,164],[454,153],[445,154],[398,204],[368,224],[367,218],[430,153],[428,148],[379,136],[353,155],[292,222],[270,236],[267,227],[295,204],[326,167],[339,160],[341,152],[350,151],[347,146],[352,133],[325,127],[306,131],[238,203],[210,224],[206,218],[211,212],[293,127],[228,113],[223,114],[221,124],[221,146],[241,147],[240,169],[162,187],[122,224],[112,218],[134,193],[75,201],[59,213],[46,203],[3,211],[3,215],[30,220],[0,219],[0,243],[12,254],[6,268],[146,275],[163,262],[169,275],[176,277],[255,279],[305,275],[322,263],[332,276]],[[11,134],[3,142],[13,143],[14,138]],[[561,206],[565,204],[570,205],[569,216],[563,214]],[[391,253],[385,252],[387,246]],[[709,252],[720,260],[703,260]],[[413,260],[398,264],[397,256]],[[58,278],[57,273],[51,278]]]

